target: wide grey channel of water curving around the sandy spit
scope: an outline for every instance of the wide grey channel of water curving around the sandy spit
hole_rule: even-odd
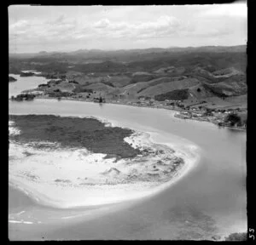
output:
[[[9,113],[102,117],[151,132],[158,142],[182,145],[183,140],[189,140],[201,148],[201,160],[195,168],[154,197],[110,205],[108,212],[102,210],[101,214],[93,209],[87,216],[72,219],[72,224],[71,219],[65,224],[57,221],[69,211],[55,212],[33,204],[33,217],[41,215],[47,222],[48,215],[55,222],[39,224],[38,228],[11,224],[9,236],[14,239],[207,239],[247,230],[245,132],[184,121],[173,117],[173,111],[78,101],[10,101]]]

